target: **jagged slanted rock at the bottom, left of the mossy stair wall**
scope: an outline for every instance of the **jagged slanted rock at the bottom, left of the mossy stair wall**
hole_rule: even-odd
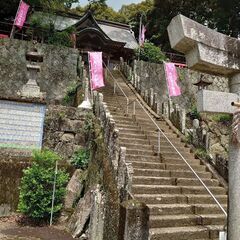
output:
[[[78,202],[78,205],[71,216],[68,224],[68,229],[73,238],[80,237],[85,230],[85,225],[89,221],[92,209],[92,191],[89,190],[83,198]]]

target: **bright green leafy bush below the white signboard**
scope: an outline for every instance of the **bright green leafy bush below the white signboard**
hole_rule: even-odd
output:
[[[18,210],[37,221],[48,220],[51,214],[52,191],[56,161],[60,157],[49,150],[35,151],[32,166],[24,170],[21,180]],[[54,201],[54,216],[61,208],[68,174],[58,170]]]

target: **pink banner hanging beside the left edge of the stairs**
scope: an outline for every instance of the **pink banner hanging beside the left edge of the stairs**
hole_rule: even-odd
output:
[[[96,90],[104,87],[102,52],[89,52],[89,63],[91,68],[91,89]]]

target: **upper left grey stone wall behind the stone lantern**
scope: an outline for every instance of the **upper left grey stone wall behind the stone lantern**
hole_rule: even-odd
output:
[[[27,82],[25,54],[32,48],[32,42],[0,39],[0,95],[15,96]],[[48,102],[59,102],[77,81],[79,53],[73,48],[47,44],[37,44],[36,48],[44,55],[38,84],[47,93]]]

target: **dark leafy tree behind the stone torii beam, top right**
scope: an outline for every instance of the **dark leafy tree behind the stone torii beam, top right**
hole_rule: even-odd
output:
[[[207,27],[238,37],[240,33],[240,4],[238,0],[154,0],[148,19],[150,40],[170,49],[167,26],[177,14],[183,14]]]

